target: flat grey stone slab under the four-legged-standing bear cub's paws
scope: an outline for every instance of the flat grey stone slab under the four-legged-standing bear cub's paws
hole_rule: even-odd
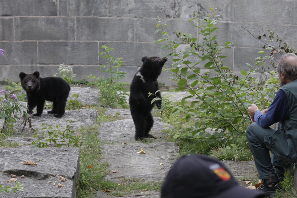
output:
[[[33,113],[34,110],[33,110]],[[74,120],[75,122],[71,123],[75,129],[79,128],[81,125],[84,126],[91,126],[93,123],[97,122],[97,111],[94,109],[80,109],[78,111],[65,111],[65,114],[62,118],[55,118],[54,114],[48,114],[47,110],[44,110],[40,116],[35,116],[31,118],[32,120],[32,128],[39,129],[43,128],[44,126],[40,127],[42,124],[56,126],[59,125],[59,129],[64,130],[66,129],[67,120]],[[14,130],[17,131],[16,136],[32,136],[32,132],[29,128],[29,124],[26,124],[24,131],[22,132],[24,125],[21,124],[21,121],[17,121],[14,125]]]

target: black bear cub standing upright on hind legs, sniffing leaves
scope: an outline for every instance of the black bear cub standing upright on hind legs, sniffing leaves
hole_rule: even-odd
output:
[[[161,109],[161,100],[155,101],[151,104],[154,95],[149,97],[150,93],[155,93],[159,90],[157,81],[158,76],[161,74],[162,67],[167,61],[165,57],[160,58],[142,57],[142,67],[136,72],[130,85],[129,105],[130,111],[135,124],[135,139],[143,140],[144,138],[155,138],[149,134],[153,127],[153,116],[151,110],[156,103],[157,107]],[[156,94],[161,98],[161,93]]]

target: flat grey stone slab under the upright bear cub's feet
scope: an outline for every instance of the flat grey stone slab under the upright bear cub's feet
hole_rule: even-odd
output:
[[[154,120],[150,134],[160,136],[160,133],[168,128],[173,128],[173,126]],[[130,143],[135,140],[135,126],[132,119],[102,122],[100,123],[100,132],[100,135],[97,136],[100,140],[119,144]]]

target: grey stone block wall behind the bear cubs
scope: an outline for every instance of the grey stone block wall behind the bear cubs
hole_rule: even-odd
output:
[[[245,63],[252,63],[263,45],[241,26],[255,36],[263,34],[261,28],[268,35],[271,28],[296,46],[295,0],[1,0],[0,49],[6,54],[0,57],[0,81],[18,81],[20,71],[52,76],[59,63],[74,65],[77,80],[89,74],[104,77],[97,67],[105,63],[98,54],[106,44],[115,49],[112,55],[123,57],[121,70],[130,83],[142,56],[163,56],[162,44],[155,44],[162,37],[154,34],[157,16],[170,25],[170,39],[178,41],[173,31],[179,29],[202,42],[188,21],[193,11],[202,18],[210,7],[218,7],[220,15],[219,44],[233,43],[224,53],[226,65],[235,71],[248,70]],[[162,72],[159,81],[176,83],[166,77],[170,74]]]

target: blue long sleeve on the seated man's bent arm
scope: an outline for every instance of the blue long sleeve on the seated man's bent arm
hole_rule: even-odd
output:
[[[265,114],[262,114],[260,110],[257,110],[254,115],[254,120],[260,127],[267,128],[288,116],[289,103],[285,92],[280,89],[276,93],[268,111]]]

